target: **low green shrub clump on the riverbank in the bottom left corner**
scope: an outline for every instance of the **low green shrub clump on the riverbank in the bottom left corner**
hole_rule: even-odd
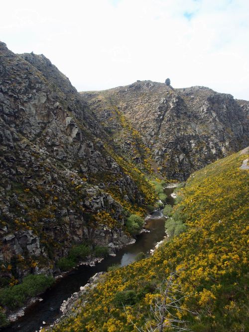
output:
[[[0,290],[0,304],[10,309],[23,306],[27,298],[36,296],[45,291],[54,282],[53,277],[44,274],[28,275],[21,284]]]

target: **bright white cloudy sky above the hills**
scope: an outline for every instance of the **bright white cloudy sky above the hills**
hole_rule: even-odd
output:
[[[0,40],[78,91],[169,77],[249,100],[249,0],[2,1]]]

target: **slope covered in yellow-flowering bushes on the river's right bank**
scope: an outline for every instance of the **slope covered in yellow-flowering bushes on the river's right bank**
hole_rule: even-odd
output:
[[[175,282],[190,295],[182,307],[195,312],[176,312],[188,321],[186,327],[196,332],[248,331],[249,175],[240,169],[247,157],[233,154],[194,173],[176,207],[183,209],[187,231],[166,241],[153,256],[106,274],[84,297],[84,308],[79,303],[74,317],[55,331],[136,331],[130,319],[144,328],[156,285],[173,270],[180,270]],[[126,307],[128,317],[113,301],[124,290],[138,294],[136,303]]]

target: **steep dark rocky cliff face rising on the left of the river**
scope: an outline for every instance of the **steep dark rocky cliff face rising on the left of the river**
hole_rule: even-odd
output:
[[[115,150],[69,80],[43,55],[16,55],[4,43],[0,172],[4,280],[52,271],[84,240],[121,247],[130,240],[127,211],[152,199],[151,185]]]

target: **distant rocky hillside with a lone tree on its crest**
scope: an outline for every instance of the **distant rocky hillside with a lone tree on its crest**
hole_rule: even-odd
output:
[[[205,87],[137,81],[81,94],[122,153],[169,179],[248,145],[247,102]]]

